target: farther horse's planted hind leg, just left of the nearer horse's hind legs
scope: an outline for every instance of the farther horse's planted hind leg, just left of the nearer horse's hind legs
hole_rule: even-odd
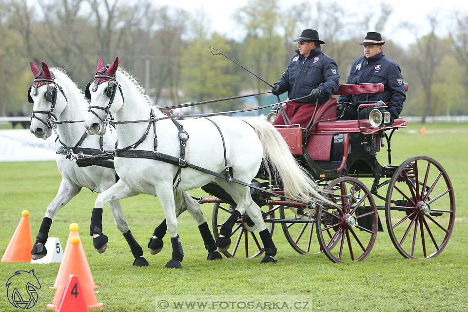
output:
[[[219,260],[223,256],[216,251],[216,244],[213,235],[210,232],[208,223],[206,223],[203,213],[201,212],[200,205],[189,195],[187,192],[183,192],[180,196],[180,203],[185,206],[185,209],[189,214],[195,219],[196,224],[198,224],[198,231],[203,238],[203,243],[205,244],[205,249],[208,251],[207,260]]]

